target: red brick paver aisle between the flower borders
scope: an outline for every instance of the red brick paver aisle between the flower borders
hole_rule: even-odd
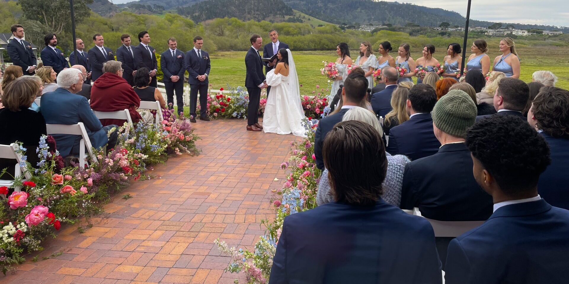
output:
[[[149,173],[161,178],[133,182],[91,219],[93,227],[62,228],[38,262],[28,256],[0,282],[233,283],[237,275],[223,272],[229,257],[213,241],[251,248],[263,234],[260,222],[274,212],[271,189],[285,177],[279,165],[296,138],[245,131],[236,119],[195,125],[200,156],[155,166]],[[122,199],[126,193],[134,198]]]

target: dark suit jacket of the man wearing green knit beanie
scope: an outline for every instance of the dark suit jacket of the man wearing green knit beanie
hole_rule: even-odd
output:
[[[464,143],[445,144],[438,153],[405,166],[402,209],[419,207],[424,217],[440,221],[484,221],[492,206],[492,196],[472,175]]]

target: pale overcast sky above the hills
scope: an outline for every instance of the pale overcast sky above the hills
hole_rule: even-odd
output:
[[[126,3],[132,0],[112,0]],[[391,2],[391,0],[388,0]],[[442,8],[466,16],[467,0],[401,0],[420,6]],[[506,11],[506,12],[505,12]],[[567,0],[475,0],[472,1],[471,19],[489,22],[551,24],[569,26],[569,2]]]

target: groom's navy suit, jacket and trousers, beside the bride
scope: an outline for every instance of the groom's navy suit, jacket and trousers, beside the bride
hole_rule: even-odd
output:
[[[245,67],[247,70],[245,76],[245,87],[249,93],[249,108],[247,110],[247,125],[253,125],[259,122],[259,101],[261,101],[261,85],[265,81],[263,74],[263,62],[258,51],[253,47],[249,48],[245,55]]]

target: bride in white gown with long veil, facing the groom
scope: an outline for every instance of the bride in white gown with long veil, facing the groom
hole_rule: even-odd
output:
[[[298,76],[292,54],[289,49],[281,48],[277,58],[277,66],[266,77],[267,85],[271,86],[271,95],[265,105],[263,131],[306,137],[304,127],[300,124],[304,111],[300,104]]]

